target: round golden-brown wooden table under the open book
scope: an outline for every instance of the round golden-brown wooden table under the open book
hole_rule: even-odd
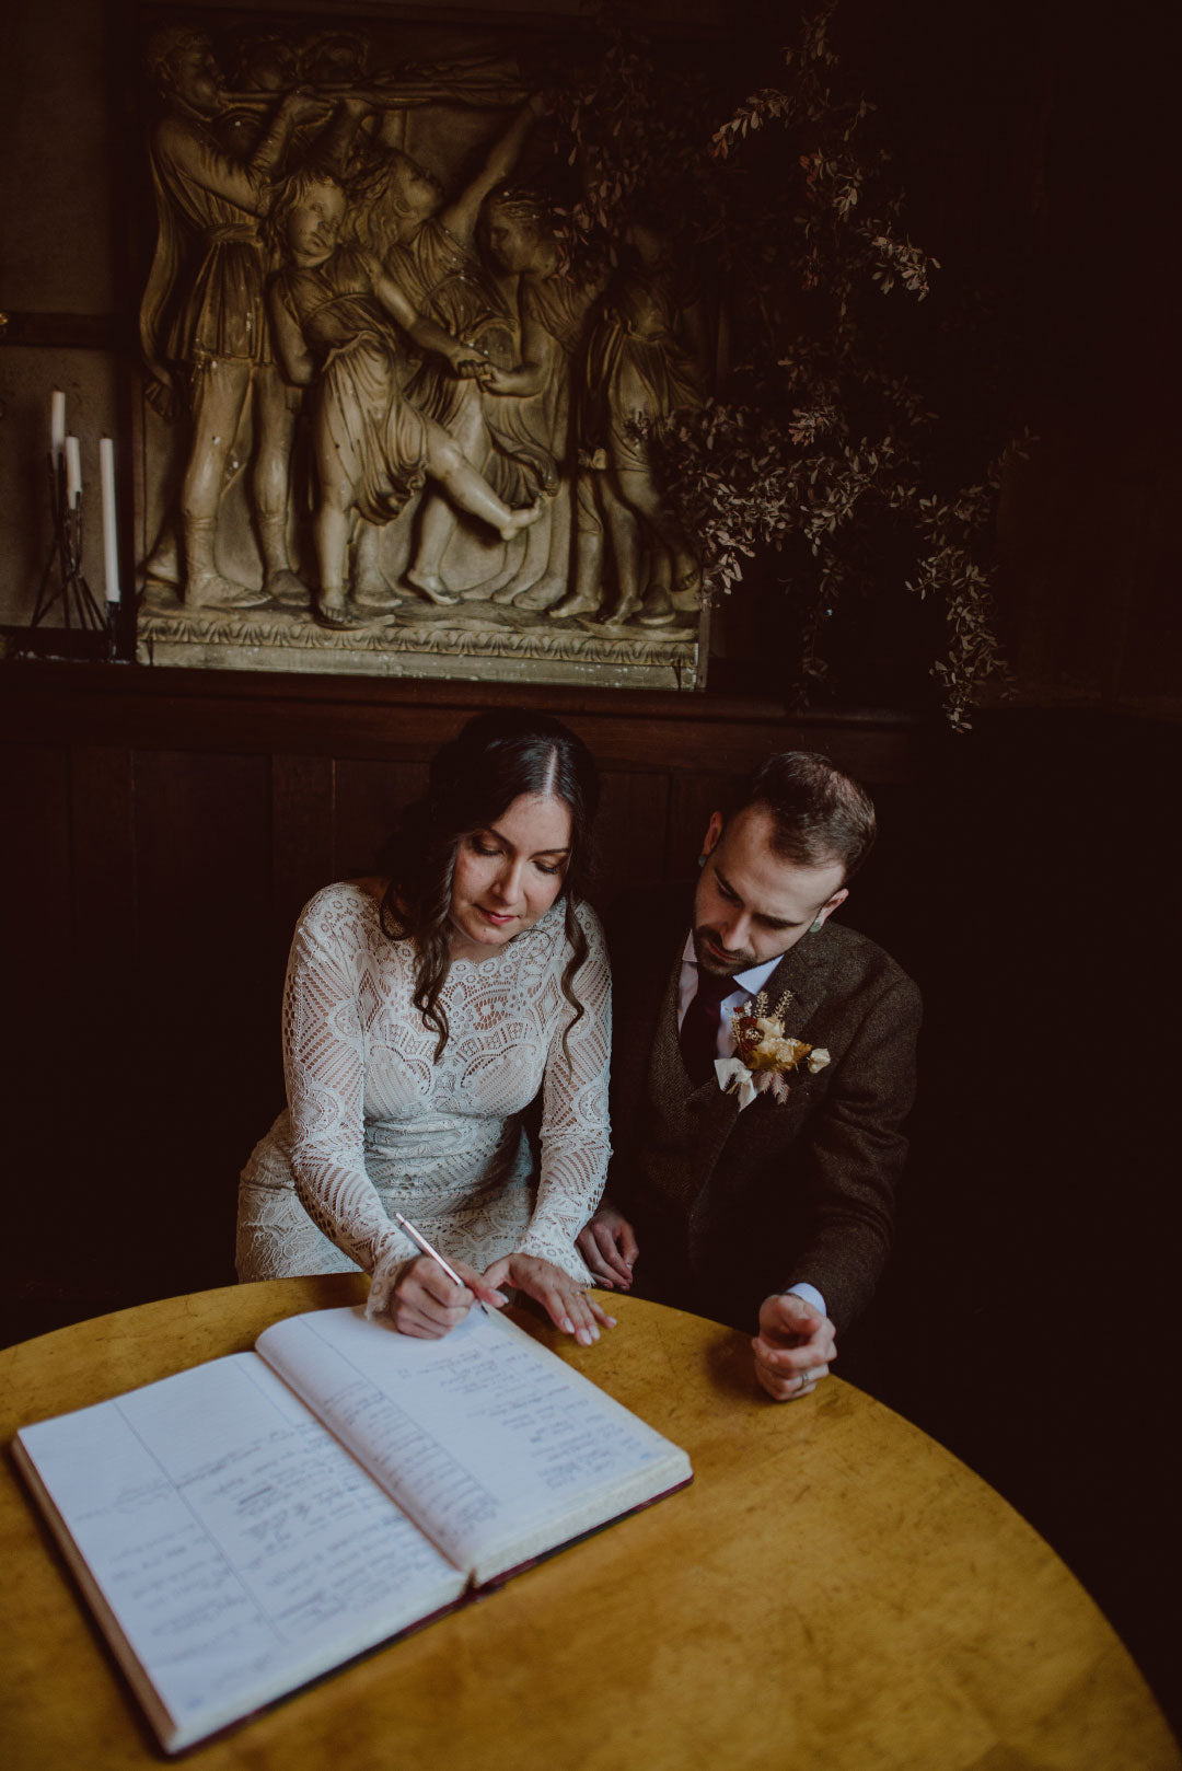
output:
[[[0,1353],[4,1436],[248,1348],[363,1280],[207,1291]],[[1182,1757],[1129,1654],[1047,1544],[898,1415],[826,1380],[776,1406],[743,1335],[617,1298],[581,1350],[521,1314],[668,1438],[689,1489],[298,1693],[188,1764],[551,1771],[1138,1771]],[[615,1307],[613,1305],[613,1307]],[[11,1465],[9,1771],[158,1750]]]

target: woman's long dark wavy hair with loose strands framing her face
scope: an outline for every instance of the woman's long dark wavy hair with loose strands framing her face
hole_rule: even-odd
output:
[[[574,1009],[571,1027],[585,1013],[574,979],[588,949],[574,910],[592,866],[592,825],[599,806],[595,763],[583,740],[549,714],[517,708],[477,714],[436,753],[427,792],[406,806],[381,857],[390,873],[381,928],[388,940],[415,944],[413,1001],[439,1036],[436,1063],[448,1040],[439,995],[452,963],[455,855],[466,836],[489,829],[523,793],[553,793],[571,811],[571,854],[560,891],[571,958],[562,994]]]

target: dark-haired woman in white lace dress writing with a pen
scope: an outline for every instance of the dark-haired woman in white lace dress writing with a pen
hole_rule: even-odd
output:
[[[502,1305],[502,1284],[585,1346],[611,1325],[574,1243],[610,1155],[610,972],[581,898],[597,793],[560,721],[478,714],[402,813],[390,878],[308,903],[284,994],[287,1110],[239,1185],[239,1279],[360,1268],[367,1312],[427,1337]]]

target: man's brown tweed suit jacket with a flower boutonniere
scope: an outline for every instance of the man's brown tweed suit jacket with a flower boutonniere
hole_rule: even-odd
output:
[[[785,1032],[828,1047],[783,1105],[739,1112],[714,1077],[695,1089],[677,1043],[691,887],[624,900],[608,924],[613,976],[608,1195],[640,1241],[634,1289],[753,1330],[758,1305],[817,1286],[838,1330],[886,1261],[914,1096],[920,992],[865,935],[826,923],[785,953]]]

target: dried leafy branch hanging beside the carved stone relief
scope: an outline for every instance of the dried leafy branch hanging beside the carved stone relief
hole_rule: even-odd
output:
[[[606,48],[594,73],[555,103],[581,174],[569,223],[587,250],[620,239],[629,211],[656,198],[682,223],[680,244],[712,269],[730,347],[716,397],[650,434],[705,593],[730,593],[746,563],[782,556],[801,638],[799,700],[828,675],[840,597],[914,593],[943,611],[930,675],[950,723],[966,730],[985,687],[1007,684],[991,540],[1017,450],[998,450],[987,421],[976,439],[950,445],[898,367],[925,354],[946,361],[955,338],[946,317],[916,329],[906,315],[929,298],[939,264],[902,223],[890,159],[868,140],[874,104],[838,89],[835,11],[826,0],[805,19],[778,81],[750,90],[709,135],[709,90],[657,67],[601,14]]]

